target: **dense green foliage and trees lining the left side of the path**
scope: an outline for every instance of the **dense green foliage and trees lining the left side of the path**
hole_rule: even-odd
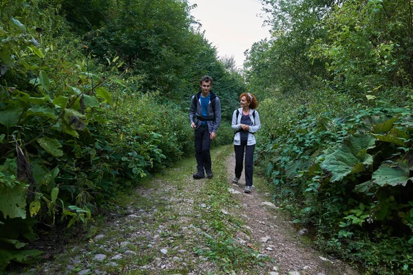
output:
[[[0,14],[0,270],[37,230],[87,224],[120,190],[193,153],[191,95],[244,91],[186,1],[6,1]],[[104,14],[104,16],[103,16]],[[231,142],[223,122],[216,144]]]

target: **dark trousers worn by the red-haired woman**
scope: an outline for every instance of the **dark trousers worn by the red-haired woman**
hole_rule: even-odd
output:
[[[253,165],[254,165],[254,149],[253,145],[234,145],[235,149],[235,177],[238,179],[242,174],[242,162],[244,160],[245,152],[245,183],[246,186],[253,186]]]

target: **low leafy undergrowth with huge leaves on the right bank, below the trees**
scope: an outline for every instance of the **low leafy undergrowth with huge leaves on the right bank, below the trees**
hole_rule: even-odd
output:
[[[286,106],[280,102],[280,109]],[[388,260],[379,253],[384,238],[374,235],[389,236],[384,239],[389,249],[404,254],[413,240],[411,109],[344,113],[337,103],[310,100],[280,110],[273,100],[263,102],[262,120],[276,123],[271,129],[264,125],[257,163],[273,185],[275,201],[296,223],[317,227],[323,249],[366,263],[367,272],[377,266],[380,274],[396,267],[407,272],[410,260]],[[326,105],[339,109],[321,108]],[[363,246],[356,245],[360,239]],[[369,249],[377,253],[368,254]]]

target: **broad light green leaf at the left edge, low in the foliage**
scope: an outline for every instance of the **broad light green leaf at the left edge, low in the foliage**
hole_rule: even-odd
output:
[[[26,189],[24,183],[0,188],[0,212],[3,212],[4,219],[26,218]]]

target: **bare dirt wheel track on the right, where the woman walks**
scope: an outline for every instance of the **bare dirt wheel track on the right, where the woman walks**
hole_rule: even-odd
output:
[[[226,167],[229,184],[235,190],[242,192],[245,184],[244,175],[238,185],[232,184],[235,169],[234,153],[229,156]],[[279,275],[358,274],[342,261],[322,255],[300,241],[302,237],[293,227],[292,221],[286,219],[285,215],[281,215],[276,206],[263,204],[271,202],[271,196],[265,186],[259,186],[259,188],[254,186],[251,195],[242,192],[240,199],[243,208],[239,214],[244,217],[246,225],[251,228],[251,242],[260,242],[260,252],[274,260],[273,274],[277,272]]]

